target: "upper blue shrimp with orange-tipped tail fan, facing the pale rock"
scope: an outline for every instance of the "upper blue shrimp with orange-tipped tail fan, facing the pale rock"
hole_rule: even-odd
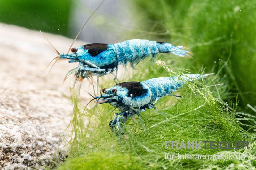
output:
[[[117,73],[118,65],[126,65],[128,62],[134,67],[141,60],[158,53],[172,53],[179,57],[190,57],[190,52],[184,46],[173,46],[170,43],[149,41],[144,39],[132,39],[115,44],[87,44],[71,48],[73,54],[60,54],[60,59],[69,59],[69,62],[79,62],[79,66],[69,70],[65,79],[76,72],[76,76],[82,79],[97,75]],[[64,79],[64,80],[65,80]],[[114,80],[116,79],[116,75]]]

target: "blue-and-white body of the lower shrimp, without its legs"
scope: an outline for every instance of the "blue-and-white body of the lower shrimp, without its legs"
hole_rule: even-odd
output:
[[[145,109],[159,98],[177,91],[186,81],[198,80],[207,75],[209,74],[183,74],[180,77],[159,77],[142,82],[119,83],[104,90],[106,95],[96,96],[96,98],[102,97],[104,98],[102,100],[106,100],[106,98],[112,97],[112,101],[107,103],[119,107],[121,111],[126,111],[130,108]],[[114,96],[113,89],[116,89]]]

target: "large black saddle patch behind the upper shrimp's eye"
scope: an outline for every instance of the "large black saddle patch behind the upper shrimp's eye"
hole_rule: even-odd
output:
[[[99,53],[105,51],[108,49],[108,44],[100,44],[100,43],[94,43],[94,44],[86,44],[83,46],[83,48],[86,50],[88,49],[88,53],[95,57]]]

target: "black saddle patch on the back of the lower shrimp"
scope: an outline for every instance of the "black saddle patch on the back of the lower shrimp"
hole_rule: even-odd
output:
[[[131,81],[131,82],[119,83],[116,85],[125,87],[126,89],[128,89],[128,96],[131,96],[132,94],[133,97],[136,97],[136,96],[141,96],[148,92],[148,89],[144,89],[140,82]]]

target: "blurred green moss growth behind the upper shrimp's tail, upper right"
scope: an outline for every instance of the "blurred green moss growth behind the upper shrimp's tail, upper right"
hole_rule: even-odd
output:
[[[231,100],[239,91],[239,110],[255,114],[246,107],[256,103],[255,1],[141,0],[134,5],[140,27],[154,34],[150,39],[186,45],[194,53],[193,60],[177,67],[198,71],[204,65],[208,72],[214,66],[216,72],[228,60],[220,75],[235,94]]]

